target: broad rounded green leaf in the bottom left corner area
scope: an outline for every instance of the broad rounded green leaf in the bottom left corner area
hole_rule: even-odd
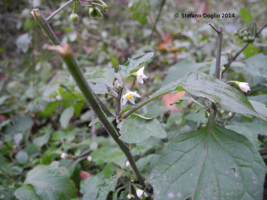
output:
[[[58,167],[59,162],[39,165],[28,172],[24,185],[30,184],[41,199],[71,199],[76,196],[76,187],[69,178],[66,167]]]

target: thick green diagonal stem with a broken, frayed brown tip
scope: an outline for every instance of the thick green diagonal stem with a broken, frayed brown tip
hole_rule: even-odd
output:
[[[50,36],[54,36],[54,38],[51,39],[52,42],[54,43],[54,41],[57,41],[55,34],[53,34],[52,29],[50,28],[49,24],[47,23],[46,19],[44,18],[42,13],[39,11],[39,9],[34,9],[34,10],[32,10],[31,13],[35,19],[36,18],[38,19],[38,20],[36,20],[37,23],[39,23],[39,25],[42,28],[45,28],[44,29],[45,32],[51,31]],[[42,19],[40,20],[40,18],[42,18]],[[47,28],[47,26],[44,25],[45,23],[49,26],[49,28]],[[55,42],[54,44],[57,44],[57,43]],[[98,103],[97,96],[95,95],[92,88],[89,86],[89,84],[85,80],[81,69],[77,65],[77,62],[76,62],[73,54],[71,53],[71,49],[70,49],[69,44],[64,44],[63,47],[54,46],[53,48],[50,48],[50,49],[56,50],[61,54],[61,57],[63,58],[64,62],[66,63],[66,65],[69,69],[69,72],[71,73],[77,86],[80,88],[82,94],[84,95],[85,100],[88,102],[91,109],[94,111],[94,113],[98,117],[99,121],[103,124],[104,128],[107,130],[109,135],[115,140],[117,145],[120,147],[120,149],[125,154],[126,158],[128,159],[129,163],[131,164],[132,169],[134,170],[134,172],[137,176],[137,179],[139,180],[139,183],[142,184],[143,186],[145,186],[144,185],[144,178],[142,177],[141,173],[139,172],[139,169],[137,168],[137,166],[135,164],[135,161],[131,155],[129,148],[119,139],[116,127],[112,126],[112,124],[110,124],[109,121],[107,120],[107,117],[105,116],[104,111],[101,109],[101,106]]]

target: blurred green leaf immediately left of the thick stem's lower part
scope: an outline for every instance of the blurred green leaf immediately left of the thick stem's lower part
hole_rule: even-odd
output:
[[[96,164],[112,162],[120,167],[125,167],[126,157],[118,147],[103,146],[91,153],[92,161]]]

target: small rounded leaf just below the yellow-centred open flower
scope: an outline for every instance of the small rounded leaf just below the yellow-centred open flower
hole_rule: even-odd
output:
[[[145,118],[137,114],[121,121],[117,128],[120,129],[120,140],[126,143],[140,143],[147,140],[150,136],[156,138],[166,138],[167,134],[158,120]]]

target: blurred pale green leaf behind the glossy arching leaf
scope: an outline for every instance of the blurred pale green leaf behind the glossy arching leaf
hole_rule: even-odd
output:
[[[188,72],[197,70],[202,66],[210,64],[211,62],[204,62],[204,63],[195,63],[191,60],[182,60],[181,62],[172,65],[168,69],[167,76],[163,81],[163,86],[167,85],[173,81],[177,81],[182,79]]]

